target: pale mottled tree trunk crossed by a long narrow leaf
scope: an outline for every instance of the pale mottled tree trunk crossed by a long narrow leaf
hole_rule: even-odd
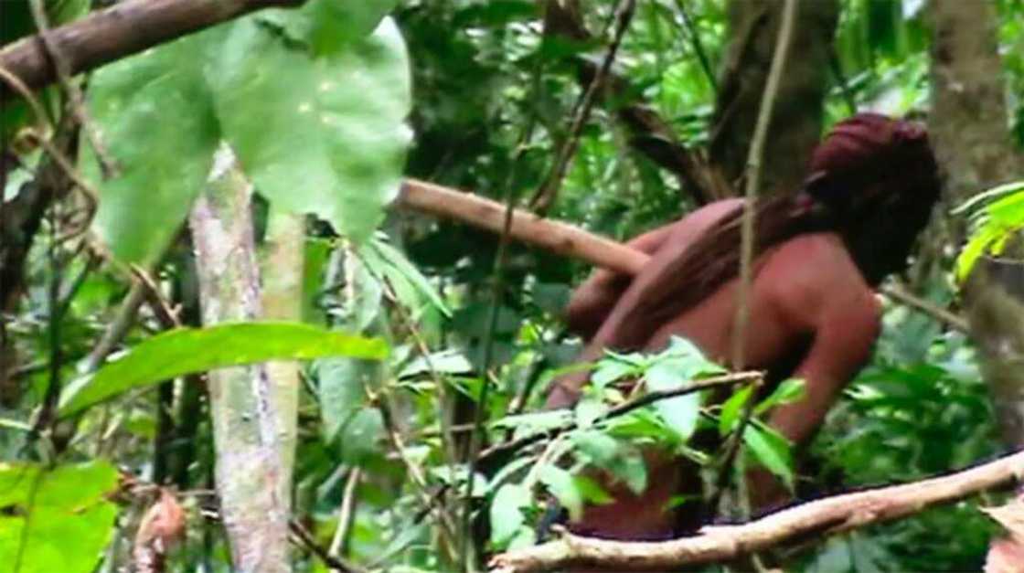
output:
[[[210,188],[189,215],[203,324],[263,315],[251,215],[251,186],[226,147],[217,152]],[[287,425],[267,368],[210,372],[216,485],[233,568],[284,572],[288,561],[290,483],[283,451]],[[292,420],[294,424],[294,418]]]

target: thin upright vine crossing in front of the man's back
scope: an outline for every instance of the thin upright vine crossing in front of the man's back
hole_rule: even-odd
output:
[[[749,303],[753,274],[752,267],[754,263],[754,203],[761,186],[761,161],[764,156],[765,139],[768,135],[768,126],[771,123],[772,112],[775,108],[778,84],[782,78],[782,70],[785,67],[785,60],[790,51],[796,15],[797,0],[785,0],[785,4],[782,6],[782,21],[779,24],[778,37],[775,40],[775,53],[772,56],[771,69],[768,71],[768,80],[765,82],[765,91],[761,98],[761,108],[758,109],[758,122],[755,126],[751,148],[746,156],[746,189],[740,230],[739,293],[737,295],[736,315],[732,328],[732,367],[734,368],[743,367],[745,362],[746,326],[750,321]],[[739,451],[739,446],[742,444],[743,432],[750,423],[751,416],[754,414],[754,404],[756,402],[755,397],[751,396],[751,399],[743,404],[739,425],[735,433],[729,437],[725,456],[719,469],[718,487],[713,495],[716,503],[721,498],[722,490],[728,483],[732,464]],[[717,510],[715,505],[710,505],[710,508],[712,511]]]

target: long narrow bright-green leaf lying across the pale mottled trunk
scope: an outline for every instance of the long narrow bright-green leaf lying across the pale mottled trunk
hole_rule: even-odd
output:
[[[73,382],[60,397],[68,415],[127,390],[190,372],[266,360],[349,356],[379,360],[387,345],[292,322],[240,322],[178,328],[136,346],[127,356]]]

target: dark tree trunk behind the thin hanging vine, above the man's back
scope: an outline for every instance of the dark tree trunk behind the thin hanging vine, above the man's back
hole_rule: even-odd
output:
[[[746,169],[746,156],[768,80],[781,0],[732,0],[729,45],[715,104],[710,156],[732,188]],[[828,53],[839,19],[836,0],[800,2],[794,27],[797,57],[786,61],[761,166],[765,193],[787,192],[806,177],[811,150],[821,138]]]

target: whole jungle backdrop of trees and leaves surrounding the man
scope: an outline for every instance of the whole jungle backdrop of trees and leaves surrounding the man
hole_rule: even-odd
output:
[[[545,411],[592,265],[395,197],[625,240],[740,195],[791,2],[758,192],[874,111],[927,124],[944,196],[809,461],[755,420],[739,466],[820,497],[1024,445],[1021,0],[0,0],[3,569],[472,570],[606,499],[585,466],[642,489],[668,444],[714,480],[690,438],[750,388]],[[724,371],[683,341],[597,368]],[[977,571],[1011,491],[705,567]]]

